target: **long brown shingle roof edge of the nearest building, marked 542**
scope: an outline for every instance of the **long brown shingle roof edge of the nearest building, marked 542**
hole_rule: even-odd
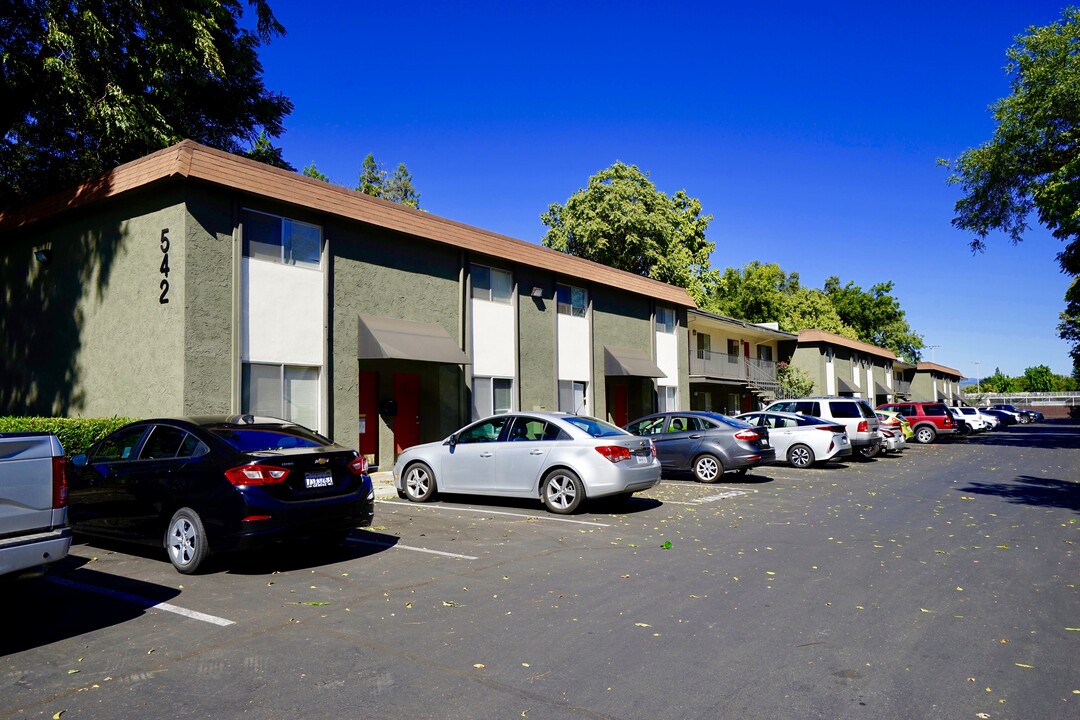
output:
[[[522,240],[370,198],[264,163],[184,140],[139,158],[83,185],[25,207],[0,213],[0,233],[65,210],[113,198],[170,178],[193,178],[283,203],[299,205],[388,230],[504,258],[571,279],[646,295],[674,305],[697,307],[681,287],[616,270]]]

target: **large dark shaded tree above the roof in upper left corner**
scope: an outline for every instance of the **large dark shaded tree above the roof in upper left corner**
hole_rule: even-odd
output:
[[[293,104],[257,51],[284,28],[266,0],[10,0],[0,9],[0,207],[191,138],[243,153]],[[280,157],[280,154],[279,154]]]

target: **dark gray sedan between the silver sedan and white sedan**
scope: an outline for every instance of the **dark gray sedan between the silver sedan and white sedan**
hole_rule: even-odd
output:
[[[777,459],[769,431],[716,412],[657,412],[626,430],[652,438],[667,472],[689,472],[699,483],[719,483],[725,473],[743,475]]]

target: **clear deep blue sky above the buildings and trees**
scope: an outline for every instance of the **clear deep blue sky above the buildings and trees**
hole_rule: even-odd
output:
[[[278,142],[353,187],[372,152],[420,206],[540,242],[540,214],[616,161],[712,214],[712,263],[892,281],[926,359],[1069,375],[1062,243],[972,255],[937,158],[987,140],[1005,50],[1064,4],[298,2],[261,51],[296,105]],[[976,365],[978,363],[978,365]]]

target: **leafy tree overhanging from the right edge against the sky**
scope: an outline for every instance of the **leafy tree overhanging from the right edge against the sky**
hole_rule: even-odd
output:
[[[964,151],[951,166],[949,181],[963,196],[953,225],[973,232],[974,250],[985,248],[993,231],[1023,240],[1027,218],[1036,214],[1054,237],[1066,243],[1057,255],[1062,271],[1080,274],[1080,10],[1068,8],[1062,21],[1030,27],[1007,51],[1012,94],[991,106],[997,126],[984,145]],[[1080,298],[1069,289],[1068,309],[1058,332],[1072,342],[1080,363]]]

